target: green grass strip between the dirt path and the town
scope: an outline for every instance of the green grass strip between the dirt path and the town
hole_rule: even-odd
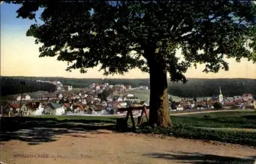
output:
[[[15,131],[31,127],[116,130],[117,118],[83,116],[2,118],[1,131]],[[148,127],[141,127],[136,132],[159,133],[178,138],[214,140],[256,147],[256,111],[190,114],[172,116],[171,118],[174,124],[172,129],[153,130]],[[137,119],[135,121],[137,122]],[[129,124],[131,125],[131,120],[129,120]]]

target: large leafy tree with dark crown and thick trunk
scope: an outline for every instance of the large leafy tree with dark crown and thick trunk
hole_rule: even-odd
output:
[[[184,73],[197,63],[207,73],[228,70],[226,58],[256,61],[256,10],[249,1],[14,3],[22,5],[17,17],[35,19],[43,9],[42,23],[27,32],[42,44],[39,57],[57,56],[68,62],[67,70],[81,73],[95,66],[105,75],[133,68],[149,72],[152,126],[172,124],[167,72],[170,80],[185,83]]]

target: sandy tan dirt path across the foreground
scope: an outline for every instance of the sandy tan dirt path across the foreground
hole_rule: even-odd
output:
[[[108,130],[55,136],[56,141],[29,145],[1,143],[1,161],[27,163],[254,163],[256,149],[159,135],[114,133]],[[29,155],[30,156],[26,156]],[[44,154],[44,155],[42,155]]]

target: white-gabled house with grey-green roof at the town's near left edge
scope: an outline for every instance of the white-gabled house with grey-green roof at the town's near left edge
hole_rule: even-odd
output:
[[[50,102],[47,104],[45,113],[55,116],[63,115],[65,114],[65,106],[56,102]]]

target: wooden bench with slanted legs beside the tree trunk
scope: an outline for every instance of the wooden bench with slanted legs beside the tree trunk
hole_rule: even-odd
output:
[[[122,107],[122,108],[117,108],[118,112],[126,112],[127,111],[127,114],[126,114],[126,117],[125,117],[125,122],[127,124],[128,122],[128,119],[129,119],[129,116],[131,117],[131,120],[132,120],[132,124],[133,124],[133,128],[135,129],[136,128],[136,124],[135,124],[135,121],[134,121],[134,118],[133,118],[133,111],[142,111],[141,112],[141,115],[140,115],[140,120],[138,122],[138,126],[140,126],[143,122],[143,115],[145,114],[146,116],[146,119],[148,121],[148,119],[150,118],[149,117],[149,110],[150,106],[132,106],[132,107]]]

